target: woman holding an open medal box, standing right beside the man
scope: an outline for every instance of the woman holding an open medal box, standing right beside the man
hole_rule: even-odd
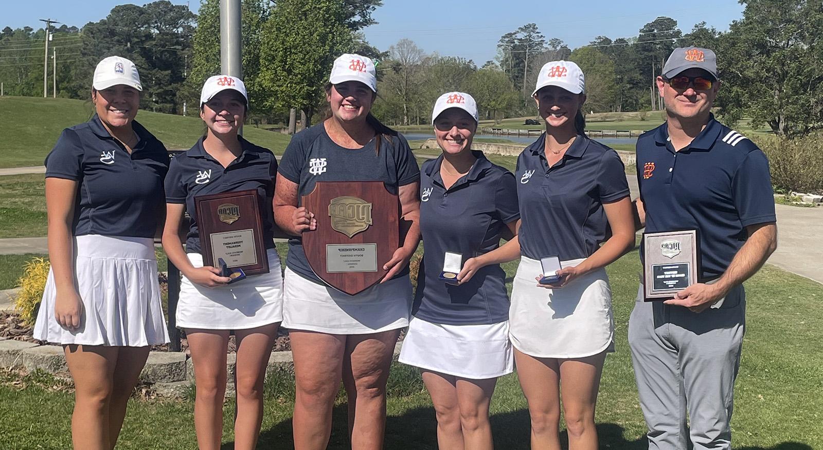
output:
[[[509,336],[532,448],[560,448],[562,396],[569,448],[595,449],[597,389],[614,347],[605,267],[635,244],[629,186],[620,156],[584,133],[577,64],[546,63],[532,96],[546,132],[518,156],[521,258]]]

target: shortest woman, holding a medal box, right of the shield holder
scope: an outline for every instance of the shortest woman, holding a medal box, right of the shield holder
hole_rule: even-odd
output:
[[[400,362],[421,369],[439,448],[491,450],[491,395],[497,377],[514,369],[500,262],[518,257],[519,248],[499,244],[517,232],[517,184],[472,151],[472,95],[440,95],[431,122],[443,153],[421,168],[423,261]]]

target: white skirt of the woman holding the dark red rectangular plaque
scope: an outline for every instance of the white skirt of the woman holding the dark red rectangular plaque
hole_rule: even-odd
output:
[[[283,276],[280,257],[268,248],[268,273],[214,288],[180,277],[177,327],[244,330],[283,320]],[[194,267],[203,267],[200,253],[187,253]]]

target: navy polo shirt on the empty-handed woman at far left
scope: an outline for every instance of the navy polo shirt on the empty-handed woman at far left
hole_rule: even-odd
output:
[[[46,178],[78,182],[72,234],[153,238],[164,217],[169,154],[137,121],[140,141],[129,154],[97,114],[63,130],[46,156]]]

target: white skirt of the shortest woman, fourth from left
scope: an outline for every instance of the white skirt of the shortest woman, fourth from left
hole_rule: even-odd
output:
[[[509,321],[444,325],[412,318],[399,361],[460,378],[497,378],[512,373]]]

